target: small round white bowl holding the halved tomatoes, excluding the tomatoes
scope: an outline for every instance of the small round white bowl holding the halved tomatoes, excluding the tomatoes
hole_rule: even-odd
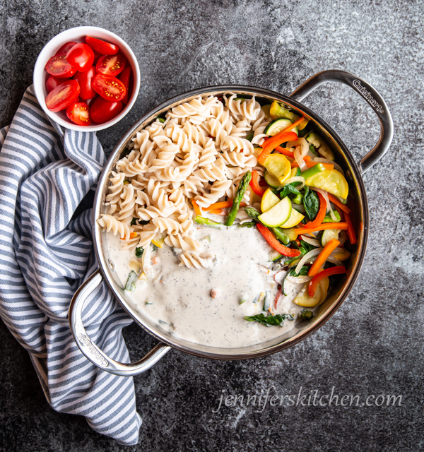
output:
[[[74,42],[85,42],[86,36],[97,37],[100,40],[105,40],[107,42],[111,42],[112,44],[116,44],[119,46],[121,52],[125,55],[128,60],[129,66],[131,66],[133,77],[132,77],[132,93],[131,97],[129,97],[128,103],[122,109],[116,117],[111,119],[110,121],[104,122],[103,124],[94,124],[92,123],[90,126],[78,126],[73,122],[69,121],[66,117],[66,110],[62,110],[61,112],[51,112],[46,105],[45,98],[47,96],[46,89],[46,81],[49,78],[49,74],[45,71],[45,66],[47,61],[57,52],[61,45],[65,44],[65,42],[74,41]],[[140,88],[140,68],[137,59],[129,48],[129,45],[126,44],[124,40],[122,40],[119,36],[114,33],[105,30],[104,28],[98,27],[76,27],[70,28],[69,30],[63,31],[56,35],[54,38],[49,40],[45,47],[42,49],[40,54],[38,55],[37,61],[35,61],[34,66],[34,74],[33,74],[33,83],[35,96],[37,97],[38,102],[40,103],[42,109],[45,111],[45,114],[56,121],[61,126],[66,127],[66,129],[72,130],[81,130],[81,131],[98,131],[102,129],[107,129],[107,127],[113,126],[118,121],[120,121],[131,109],[136,102],[136,98],[139,95]]]

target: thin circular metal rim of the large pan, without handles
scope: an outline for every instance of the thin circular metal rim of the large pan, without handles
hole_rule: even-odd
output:
[[[114,283],[113,280],[111,281],[112,278],[110,278],[110,276],[108,275],[107,262],[105,260],[105,255],[102,252],[102,235],[101,235],[102,229],[100,228],[96,221],[96,219],[99,217],[101,213],[100,209],[102,207],[102,197],[103,194],[105,193],[105,189],[107,188],[107,181],[110,171],[112,170],[114,163],[117,160],[117,156],[120,155],[120,153],[122,153],[122,150],[124,150],[126,144],[134,136],[134,133],[140,128],[140,126],[143,123],[146,123],[147,125],[150,121],[154,119],[155,115],[160,114],[160,112],[162,112],[165,109],[169,109],[172,104],[177,105],[183,102],[184,100],[189,100],[199,95],[207,95],[208,93],[216,92],[222,93],[233,92],[240,94],[244,94],[247,92],[248,94],[255,94],[257,95],[257,97],[260,97],[261,95],[264,95],[265,97],[273,97],[275,100],[284,102],[290,106],[295,107],[296,109],[305,113],[307,117],[310,117],[310,119],[313,119],[317,124],[319,124],[319,126],[321,126],[326,131],[326,133],[329,133],[329,136],[331,136],[331,138],[336,142],[341,152],[343,153],[346,162],[348,162],[349,169],[351,169],[352,171],[353,183],[355,184],[356,189],[355,198],[358,198],[357,201],[360,205],[360,213],[362,218],[362,225],[360,227],[360,232],[358,234],[358,254],[356,261],[353,265],[351,274],[348,275],[348,279],[341,288],[338,297],[336,297],[334,299],[334,302],[332,302],[332,304],[329,305],[329,307],[326,309],[321,318],[310,323],[308,326],[305,326],[305,328],[302,328],[302,331],[300,331],[300,333],[296,333],[292,337],[284,338],[285,335],[289,335],[290,332],[293,332],[295,328],[288,331],[288,333],[278,336],[277,338],[267,340],[264,343],[259,343],[256,345],[248,345],[246,347],[234,347],[234,348],[208,347],[181,338],[175,338],[175,336],[170,336],[169,334],[166,335],[161,331],[160,326],[158,326],[157,324],[151,326],[148,325],[147,322],[143,321],[143,319],[141,319],[136,314],[134,308],[131,307],[131,305],[128,302],[126,302],[126,299],[122,296],[123,291],[119,290],[119,287],[116,287],[116,283]],[[338,136],[336,131],[334,131],[331,128],[331,126],[329,126],[329,124],[327,124],[326,121],[324,121],[324,119],[319,117],[317,113],[314,113],[311,109],[303,105],[301,102],[294,100],[292,97],[265,88],[257,88],[249,85],[212,85],[206,86],[204,88],[196,88],[194,90],[189,90],[185,93],[171,97],[170,99],[165,100],[165,102],[161,102],[160,105],[154,107],[146,114],[143,114],[143,116],[138,121],[136,121],[133,124],[133,126],[131,126],[129,130],[126,131],[126,133],[124,133],[124,136],[122,136],[117,145],[114,147],[114,150],[112,150],[112,153],[109,159],[107,160],[107,163],[98,181],[98,187],[95,193],[92,215],[93,215],[92,217],[93,245],[95,249],[95,256],[98,259],[100,273],[102,274],[102,277],[105,279],[110,290],[112,290],[114,297],[116,297],[119,300],[119,304],[121,304],[121,306],[131,316],[131,318],[134,319],[134,321],[136,321],[145,331],[153,335],[153,337],[157,338],[158,340],[167,345],[170,345],[171,347],[177,350],[189,353],[190,355],[194,355],[196,357],[206,357],[210,359],[222,359],[222,360],[250,359],[253,357],[263,357],[266,355],[271,355],[272,353],[284,350],[285,348],[288,348],[291,345],[295,345],[296,343],[300,342],[300,340],[303,340],[308,335],[321,328],[324,325],[324,323],[326,323],[326,321],[328,321],[331,318],[331,316],[333,316],[336,313],[338,308],[341,307],[341,304],[343,304],[346,297],[348,297],[349,292],[351,292],[352,287],[355,284],[356,279],[358,278],[360,268],[362,267],[365,258],[369,225],[369,210],[367,196],[365,192],[363,178],[360,173],[360,169],[358,167],[358,164],[355,162],[353,155],[348,150],[346,144],[343,143],[340,136]],[[279,342],[278,339],[280,339]],[[272,344],[270,345],[269,343]],[[225,354],[218,352],[218,350],[225,350],[227,352],[230,352],[231,350],[232,352]]]

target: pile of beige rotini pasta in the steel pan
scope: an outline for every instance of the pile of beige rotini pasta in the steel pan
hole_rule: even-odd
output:
[[[263,174],[254,147],[270,120],[254,98],[234,94],[172,107],[165,119],[137,131],[117,161],[98,224],[119,234],[122,249],[146,249],[161,239],[182,250],[180,265],[205,267],[210,259],[197,253],[192,201],[207,208],[233,198],[249,169]],[[248,189],[243,202],[250,197]]]

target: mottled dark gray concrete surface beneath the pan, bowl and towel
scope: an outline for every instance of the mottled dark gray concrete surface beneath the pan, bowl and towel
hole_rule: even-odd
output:
[[[95,434],[83,417],[47,404],[27,353],[0,323],[3,451],[423,450],[423,2],[0,1],[0,126],[11,121],[45,42],[98,25],[128,42],[141,68],[139,99],[112,129],[110,151],[163,100],[203,85],[244,83],[290,93],[312,74],[343,69],[379,90],[394,118],[384,160],[365,174],[370,240],[347,301],[317,333],[278,355],[213,362],[172,351],[136,377],[143,417],[137,446]],[[355,157],[378,138],[370,107],[341,85],[305,100]],[[125,333],[131,356],[155,340]],[[223,407],[222,394],[402,396],[401,407]],[[371,399],[370,399],[371,400]],[[381,401],[381,399],[379,399]],[[355,405],[355,404],[354,404]]]

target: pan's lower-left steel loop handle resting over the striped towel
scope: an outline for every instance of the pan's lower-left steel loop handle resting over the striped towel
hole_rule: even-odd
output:
[[[171,347],[164,343],[158,343],[158,345],[148,352],[145,357],[140,359],[140,361],[131,364],[114,361],[114,359],[105,355],[105,353],[102,352],[88,336],[86,328],[83,326],[81,316],[86,299],[90,293],[98,287],[102,280],[102,274],[100,273],[100,270],[97,270],[85,283],[83,283],[83,285],[81,285],[75,295],[73,295],[71,305],[69,306],[69,326],[71,327],[73,338],[83,355],[95,364],[95,366],[100,367],[100,369],[119,376],[141,374],[141,372],[150,369],[153,364],[156,364],[166,352],[170,351]]]

